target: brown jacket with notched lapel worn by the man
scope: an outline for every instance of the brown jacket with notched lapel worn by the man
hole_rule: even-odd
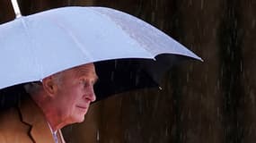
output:
[[[58,131],[59,143],[64,143]],[[17,107],[0,112],[0,143],[55,143],[40,108],[26,98]]]

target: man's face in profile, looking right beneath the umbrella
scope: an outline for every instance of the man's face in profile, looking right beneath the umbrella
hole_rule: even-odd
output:
[[[54,96],[57,118],[66,123],[83,122],[96,97],[93,85],[97,75],[93,63],[63,71]]]

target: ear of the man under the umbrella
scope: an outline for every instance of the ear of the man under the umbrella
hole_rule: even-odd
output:
[[[53,97],[57,92],[57,84],[53,79],[53,76],[49,76],[42,80],[42,86],[45,92],[48,93],[50,97]]]

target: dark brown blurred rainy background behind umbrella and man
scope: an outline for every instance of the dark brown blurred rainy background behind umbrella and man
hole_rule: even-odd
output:
[[[85,122],[64,130],[67,143],[255,142],[256,1],[18,1],[23,15],[66,5],[115,8],[204,59],[173,67],[162,90],[139,89],[93,104]],[[1,0],[0,22],[13,19],[11,0]]]

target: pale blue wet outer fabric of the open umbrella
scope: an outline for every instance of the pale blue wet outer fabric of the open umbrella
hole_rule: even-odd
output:
[[[161,54],[201,60],[145,21],[104,7],[64,7],[22,16],[0,25],[0,33],[0,89],[84,63],[155,60]]]

